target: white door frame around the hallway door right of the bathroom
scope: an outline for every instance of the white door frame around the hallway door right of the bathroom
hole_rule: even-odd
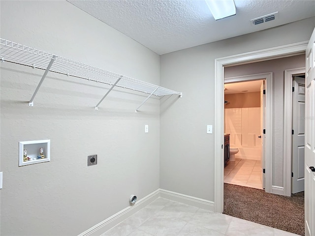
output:
[[[305,74],[305,67],[284,70],[284,195],[292,192],[292,77]]]

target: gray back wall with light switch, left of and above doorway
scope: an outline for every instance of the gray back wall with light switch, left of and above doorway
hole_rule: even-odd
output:
[[[160,102],[161,188],[214,201],[214,158],[221,157],[206,125],[214,124],[215,59],[307,41],[314,27],[309,18],[160,57],[161,86],[184,94]]]

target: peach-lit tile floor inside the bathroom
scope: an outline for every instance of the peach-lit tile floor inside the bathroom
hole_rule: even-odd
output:
[[[262,189],[260,161],[235,158],[224,168],[224,183]]]

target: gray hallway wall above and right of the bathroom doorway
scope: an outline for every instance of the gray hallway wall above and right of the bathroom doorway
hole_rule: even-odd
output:
[[[224,68],[224,77],[273,72],[273,180],[272,185],[283,187],[284,148],[284,70],[305,66],[305,54],[283,59],[266,60]]]

